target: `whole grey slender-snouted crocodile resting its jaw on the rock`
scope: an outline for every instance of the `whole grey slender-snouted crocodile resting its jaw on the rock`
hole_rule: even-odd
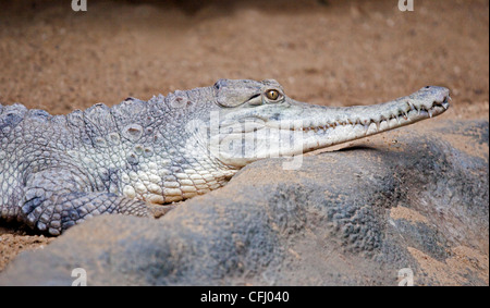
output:
[[[68,115],[0,104],[0,212],[59,235],[103,213],[157,215],[223,186],[242,167],[295,156],[443,113],[450,93],[332,108],[295,101],[275,81],[220,79],[149,101]],[[164,207],[163,207],[164,208]]]

